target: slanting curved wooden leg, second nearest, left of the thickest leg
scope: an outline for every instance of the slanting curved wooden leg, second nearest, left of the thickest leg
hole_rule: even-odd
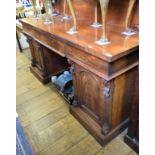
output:
[[[76,17],[75,17],[75,11],[74,11],[74,7],[73,7],[73,0],[67,0],[70,12],[72,14],[73,17],[73,27],[67,32],[71,35],[78,33],[77,32],[77,22],[76,22]]]

